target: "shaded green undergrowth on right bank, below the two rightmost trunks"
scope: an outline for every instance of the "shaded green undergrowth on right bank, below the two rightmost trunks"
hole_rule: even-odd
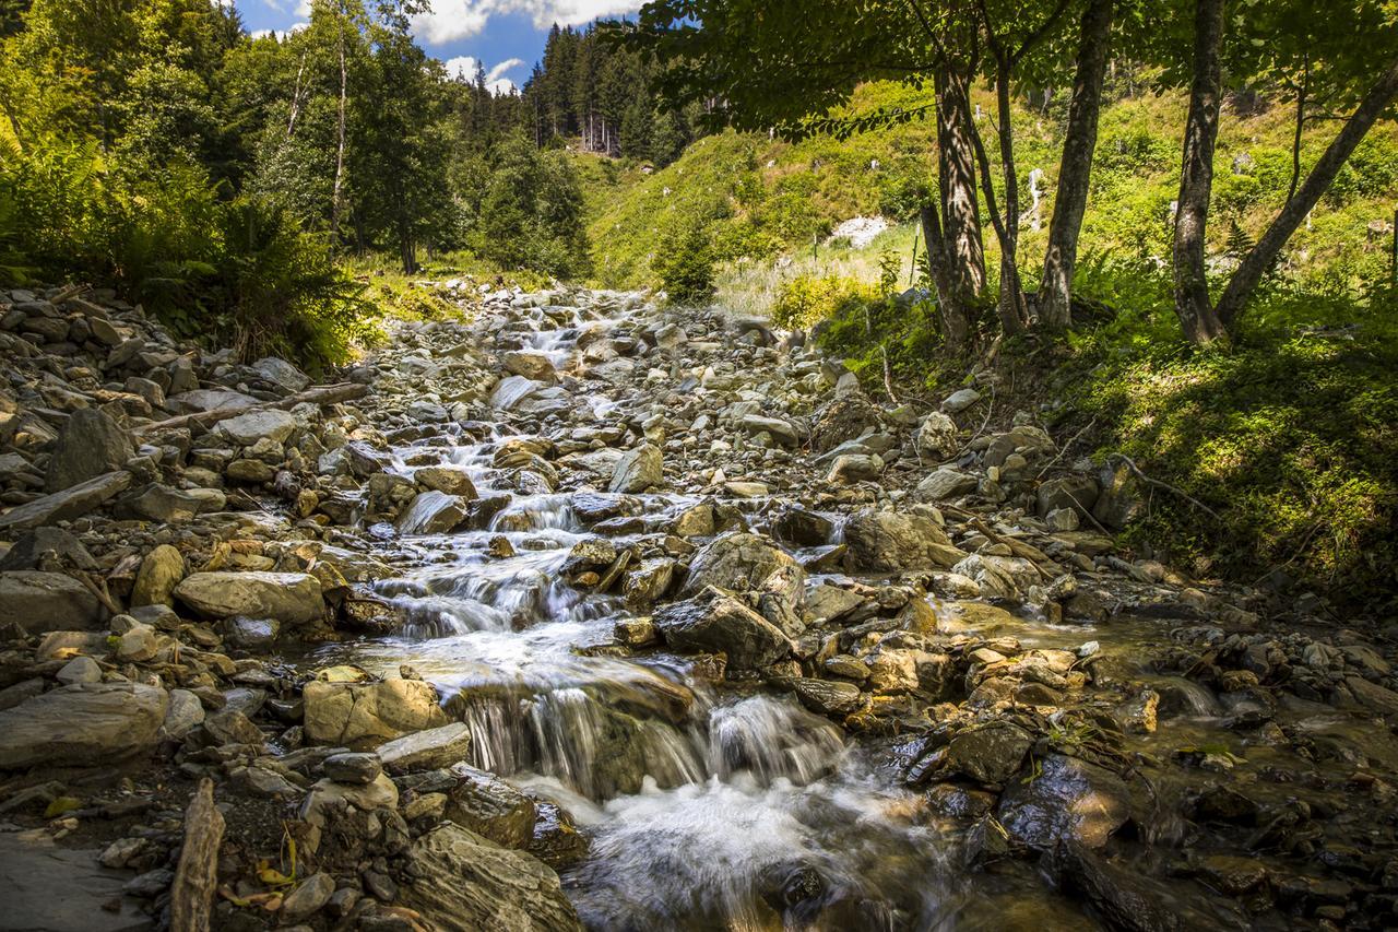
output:
[[[1125,543],[1199,574],[1254,582],[1281,571],[1339,602],[1391,607],[1394,294],[1275,288],[1240,320],[1232,347],[1191,350],[1177,336],[1163,276],[1111,276],[1099,264],[1089,278],[1082,290],[1117,315],[1054,351],[1051,385],[1065,402],[1057,432],[1090,425],[1085,437],[1099,460],[1125,453],[1219,516],[1151,488],[1149,511]]]

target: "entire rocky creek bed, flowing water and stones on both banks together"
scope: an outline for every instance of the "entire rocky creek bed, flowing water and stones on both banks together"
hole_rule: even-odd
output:
[[[320,386],[0,291],[0,929],[1398,925],[1394,645],[1128,465],[431,287]]]

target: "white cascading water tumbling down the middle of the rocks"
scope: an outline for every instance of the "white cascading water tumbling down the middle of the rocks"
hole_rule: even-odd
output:
[[[524,346],[565,371],[584,334],[615,320],[534,309],[528,323]],[[615,404],[586,403],[598,417]],[[562,876],[593,928],[891,929],[931,915],[937,863],[909,852],[935,845],[909,816],[913,796],[871,779],[828,719],[790,697],[714,694],[679,659],[576,649],[607,641],[626,610],[562,578],[583,523],[569,495],[510,486],[495,452],[512,438],[495,428],[400,451],[404,474],[436,453],[507,502],[488,530],[412,542],[442,560],[380,584],[408,619],[403,630],[329,652],[376,670],[411,665],[468,726],[471,765],[551,798],[589,830],[591,855]],[[656,518],[698,501],[639,498]],[[492,554],[499,536],[513,556]]]

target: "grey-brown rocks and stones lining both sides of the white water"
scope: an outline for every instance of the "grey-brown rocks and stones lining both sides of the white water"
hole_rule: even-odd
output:
[[[1346,859],[1316,840],[1313,802],[1205,785],[1230,753],[1162,764],[1149,740],[1199,714],[1316,744],[1276,722],[1290,700],[1392,721],[1391,661],[1359,635],[1264,634],[1257,593],[1127,560],[1110,532],[1144,504],[1125,465],[1069,462],[1028,416],[990,427],[976,389],[878,404],[759,320],[642,294],[446,291],[474,322],[403,325],[324,386],[180,343],[112,294],[0,292],[0,814],[27,828],[7,856],[101,841],[94,858],[133,875],[127,900],[168,917],[180,891],[217,890],[219,928],[580,928],[556,870],[586,833],[463,763],[460,697],[407,666],[287,661],[401,630],[370,584],[422,558],[412,539],[491,530],[481,558],[516,557],[535,525],[512,490],[582,526],[562,584],[626,606],[580,652],[664,651],[714,689],[793,696],[958,826],[969,868],[1043,856],[1123,924],[1206,924],[1106,854],[1165,831],[1139,775],[1167,764],[1192,824],[1222,838],[1172,868],[1201,903],[1385,915],[1387,851]],[[572,355],[537,339],[579,319],[607,326],[573,332]],[[445,446],[484,451],[489,484]],[[686,689],[656,689],[637,707],[693,723]],[[647,761],[624,744],[594,796],[640,789]],[[1364,764],[1355,779],[1392,812]],[[212,865],[190,854],[214,823],[199,795],[186,816],[199,781],[228,826]],[[1257,847],[1229,834],[1244,824],[1343,862],[1348,886],[1220,854]]]

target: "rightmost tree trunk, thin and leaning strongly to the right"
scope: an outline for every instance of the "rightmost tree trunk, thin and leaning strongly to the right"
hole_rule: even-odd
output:
[[[1262,238],[1257,241],[1257,245],[1248,250],[1237,270],[1233,271],[1233,277],[1229,278],[1227,287],[1223,288],[1223,295],[1218,304],[1218,316],[1223,322],[1223,326],[1232,326],[1257,287],[1257,283],[1262,280],[1267,270],[1276,262],[1282,246],[1296,232],[1296,228],[1302,225],[1306,214],[1311,211],[1325,193],[1325,189],[1335,181],[1335,175],[1339,174],[1345,161],[1353,154],[1355,147],[1359,146],[1360,140],[1364,139],[1364,134],[1369,133],[1369,129],[1378,120],[1395,97],[1398,97],[1398,57],[1388,63],[1387,70],[1369,88],[1364,99],[1359,102],[1359,106],[1345,122],[1343,129],[1339,130],[1339,134],[1331,141],[1325,154],[1311,168],[1296,196],[1286,202],[1282,213],[1276,216],[1272,225],[1267,228]]]

